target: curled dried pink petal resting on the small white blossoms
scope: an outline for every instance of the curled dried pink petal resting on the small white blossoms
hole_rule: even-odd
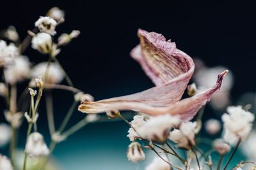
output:
[[[140,45],[132,50],[131,56],[140,63],[156,87],[128,96],[83,102],[78,110],[84,113],[133,110],[153,116],[168,113],[178,114],[182,120],[191,120],[211,95],[220,90],[223,76],[228,71],[218,75],[212,88],[180,100],[195,69],[193,60],[161,34],[139,29],[138,36]]]

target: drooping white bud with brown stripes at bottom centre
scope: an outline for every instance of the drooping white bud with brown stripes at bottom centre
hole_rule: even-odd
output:
[[[145,153],[143,152],[140,143],[132,142],[127,149],[128,160],[138,163],[140,160],[145,160]]]

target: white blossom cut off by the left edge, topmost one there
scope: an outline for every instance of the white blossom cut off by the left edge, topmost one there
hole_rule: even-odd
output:
[[[15,57],[19,56],[19,49],[13,44],[6,44],[6,41],[0,39],[0,67],[8,66]]]

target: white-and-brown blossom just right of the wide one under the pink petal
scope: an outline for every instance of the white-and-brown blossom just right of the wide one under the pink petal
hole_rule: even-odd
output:
[[[170,132],[169,139],[177,143],[178,148],[190,149],[195,145],[196,122],[182,122],[179,129]]]

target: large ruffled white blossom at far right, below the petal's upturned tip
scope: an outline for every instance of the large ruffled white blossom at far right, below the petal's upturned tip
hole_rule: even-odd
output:
[[[235,143],[238,138],[248,138],[252,130],[254,115],[243,110],[242,106],[229,106],[228,113],[224,113],[221,120],[224,123],[224,139],[228,143]]]

